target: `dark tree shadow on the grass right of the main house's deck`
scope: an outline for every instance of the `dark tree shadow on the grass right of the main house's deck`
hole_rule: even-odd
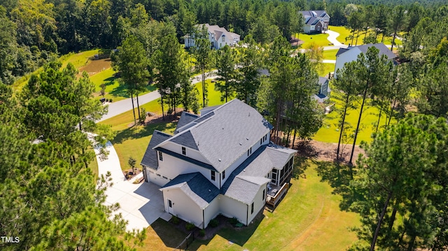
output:
[[[315,162],[316,171],[321,177],[321,182],[328,182],[333,188],[332,194],[342,196],[339,203],[341,210],[349,211],[353,202],[358,201],[358,194],[350,187],[350,167],[335,162]]]

